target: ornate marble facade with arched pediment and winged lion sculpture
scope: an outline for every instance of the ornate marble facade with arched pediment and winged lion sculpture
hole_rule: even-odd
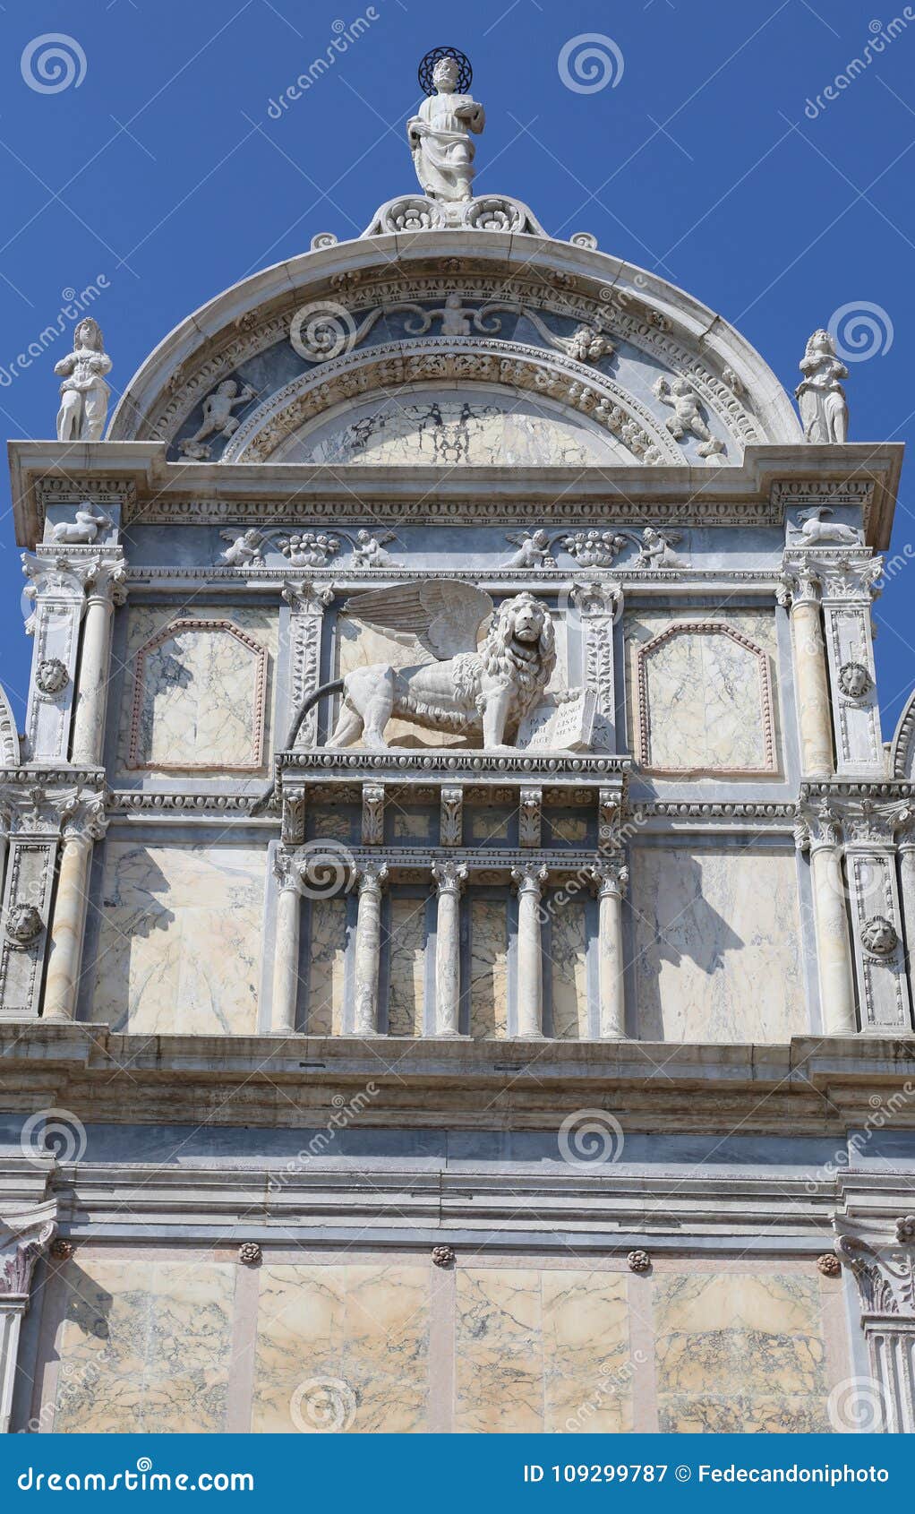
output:
[[[912,1432],[901,448],[420,186],[11,445],[0,1420]]]

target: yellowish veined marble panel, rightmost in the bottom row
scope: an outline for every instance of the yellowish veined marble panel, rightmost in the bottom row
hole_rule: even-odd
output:
[[[661,1275],[655,1370],[662,1432],[829,1431],[815,1275]]]

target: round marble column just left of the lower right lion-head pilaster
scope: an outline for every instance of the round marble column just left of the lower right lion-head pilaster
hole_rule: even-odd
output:
[[[838,816],[829,805],[806,813],[799,843],[811,854],[820,1008],[827,1036],[853,1036],[858,1030],[841,840]]]

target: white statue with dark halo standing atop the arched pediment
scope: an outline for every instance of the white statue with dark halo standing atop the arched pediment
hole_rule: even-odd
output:
[[[439,51],[439,50],[437,50]],[[431,70],[431,74],[430,74]],[[473,74],[463,53],[428,53],[419,65],[426,98],[407,121],[407,141],[422,192],[431,200],[472,200],[473,153],[470,133],[485,126],[481,104],[461,91]]]

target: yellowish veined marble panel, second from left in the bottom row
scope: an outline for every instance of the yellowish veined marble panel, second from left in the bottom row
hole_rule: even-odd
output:
[[[422,1266],[271,1264],[260,1270],[251,1429],[293,1432],[318,1388],[352,1432],[426,1428],[430,1272]],[[295,1400],[295,1405],[293,1405]],[[307,1428],[307,1425],[306,1425]]]

